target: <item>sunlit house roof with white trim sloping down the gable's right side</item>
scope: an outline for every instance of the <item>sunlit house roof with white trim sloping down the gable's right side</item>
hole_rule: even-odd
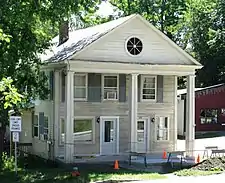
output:
[[[133,19],[139,19],[141,22],[145,23],[152,31],[154,31],[159,37],[161,37],[164,42],[166,41],[172,49],[175,49],[186,59],[188,59],[191,65],[200,66],[201,64],[197,62],[192,56],[182,50],[178,45],[176,45],[172,40],[170,40],[165,34],[155,28],[151,23],[145,20],[140,15],[130,15],[126,17],[119,18],[101,25],[89,27],[86,29],[80,29],[69,33],[69,40],[64,44],[57,47],[58,36],[53,39],[55,46],[48,50],[47,55],[42,55],[42,60],[47,60],[49,62],[60,62],[65,59],[72,58],[78,53],[85,51],[88,47],[97,44],[97,42],[104,37],[109,36],[112,32],[116,31],[119,27]],[[109,34],[110,33],[110,34]]]

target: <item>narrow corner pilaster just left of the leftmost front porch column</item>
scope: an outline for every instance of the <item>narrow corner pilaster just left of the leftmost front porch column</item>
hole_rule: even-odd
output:
[[[60,107],[60,72],[54,72],[54,156],[58,156],[59,148],[59,107]]]

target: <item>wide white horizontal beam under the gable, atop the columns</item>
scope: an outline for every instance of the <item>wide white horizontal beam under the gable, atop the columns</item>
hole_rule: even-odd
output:
[[[70,70],[74,72],[93,72],[111,74],[151,74],[151,75],[171,75],[187,76],[195,75],[197,66],[190,65],[150,65],[150,64],[130,64],[116,62],[94,62],[71,60]]]

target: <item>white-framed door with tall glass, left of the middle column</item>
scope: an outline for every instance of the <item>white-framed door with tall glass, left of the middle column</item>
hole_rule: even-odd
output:
[[[113,155],[119,152],[119,118],[100,118],[100,154]]]

